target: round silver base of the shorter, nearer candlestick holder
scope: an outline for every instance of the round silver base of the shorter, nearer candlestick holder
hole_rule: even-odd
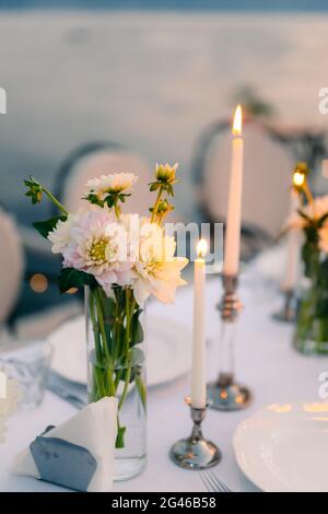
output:
[[[187,437],[172,446],[169,457],[181,468],[200,470],[216,466],[222,455],[211,441]]]

